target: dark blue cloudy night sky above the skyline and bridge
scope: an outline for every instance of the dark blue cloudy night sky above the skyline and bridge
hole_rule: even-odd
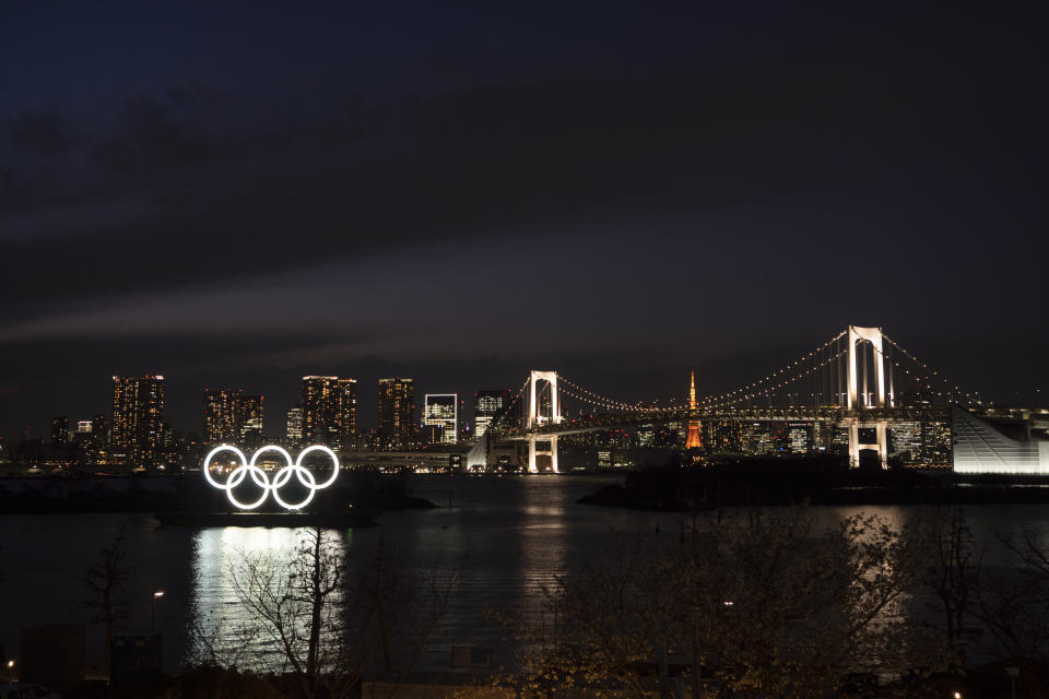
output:
[[[703,394],[849,323],[1049,392],[1045,3],[615,4],[0,5],[0,434],[114,374],[274,435],[304,374]]]

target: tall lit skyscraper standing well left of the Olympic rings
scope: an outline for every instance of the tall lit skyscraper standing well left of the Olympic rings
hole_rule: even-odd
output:
[[[133,467],[161,465],[164,377],[113,377],[113,447]]]

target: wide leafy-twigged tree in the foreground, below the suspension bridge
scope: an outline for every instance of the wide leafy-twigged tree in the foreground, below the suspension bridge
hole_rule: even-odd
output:
[[[817,531],[794,508],[710,521],[680,544],[636,541],[558,581],[556,624],[522,638],[515,680],[535,696],[669,697],[675,657],[696,697],[836,696],[916,652],[900,609],[910,536],[864,517]]]

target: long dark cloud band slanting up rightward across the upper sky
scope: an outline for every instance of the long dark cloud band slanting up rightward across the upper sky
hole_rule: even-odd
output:
[[[1030,157],[1023,144],[1037,121],[1011,112],[1006,125],[999,115],[1006,97],[1035,111],[1028,44],[963,25],[834,48],[834,61],[824,46],[716,71],[495,82],[272,129],[247,115],[239,126],[193,122],[176,105],[134,97],[99,162],[156,182],[150,197],[184,206],[72,241],[52,261],[56,277],[71,277],[90,254],[97,293],[169,287],[305,266],[321,252],[653,211],[704,214],[842,186],[860,206],[891,197],[906,210],[916,201],[908,188],[928,186],[922,197],[934,201],[1013,177]],[[988,60],[1015,70],[989,72]],[[995,147],[974,159],[967,144],[989,130]],[[160,258],[153,241],[165,241]],[[19,247],[27,259],[43,251]],[[59,281],[42,292],[69,289]]]

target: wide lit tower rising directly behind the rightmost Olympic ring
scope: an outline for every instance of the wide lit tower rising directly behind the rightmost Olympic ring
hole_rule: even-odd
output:
[[[357,433],[357,380],[303,377],[303,443],[353,449]]]

